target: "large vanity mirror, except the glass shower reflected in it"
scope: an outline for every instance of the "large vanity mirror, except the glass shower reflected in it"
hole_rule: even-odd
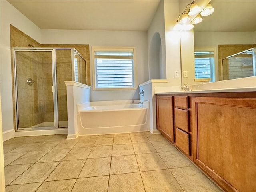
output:
[[[190,3],[190,1],[186,2]],[[185,38],[189,35],[181,36],[181,68],[182,71],[187,70],[188,75],[187,78],[182,75],[182,83],[198,84],[209,80],[210,82],[224,80],[222,59],[256,47],[256,1],[211,0],[210,4],[214,7],[214,12],[202,17],[201,23],[194,24],[194,42],[186,41]],[[188,57],[186,56],[188,47],[190,54],[192,52],[192,43],[194,43],[193,52],[195,51],[196,59],[193,60],[189,56],[190,67],[188,62],[184,66],[183,61]]]

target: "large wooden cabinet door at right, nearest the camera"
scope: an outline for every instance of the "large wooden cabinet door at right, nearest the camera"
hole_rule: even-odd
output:
[[[256,98],[196,97],[194,162],[224,190],[256,191]]]

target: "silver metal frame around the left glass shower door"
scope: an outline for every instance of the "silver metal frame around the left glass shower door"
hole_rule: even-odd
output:
[[[53,107],[54,107],[54,126],[42,126],[42,127],[29,127],[29,128],[19,128],[18,121],[18,86],[17,86],[17,66],[16,66],[16,52],[24,51],[48,51],[52,53],[52,92],[53,92]],[[12,48],[13,54],[13,65],[14,65],[14,101],[15,101],[15,120],[16,120],[16,130],[26,130],[26,129],[49,129],[49,128],[59,128],[58,122],[58,96],[57,96],[57,74],[56,74],[56,48]]]

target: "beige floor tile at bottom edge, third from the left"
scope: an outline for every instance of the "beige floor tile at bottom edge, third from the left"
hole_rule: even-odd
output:
[[[108,176],[79,178],[72,192],[107,192]]]

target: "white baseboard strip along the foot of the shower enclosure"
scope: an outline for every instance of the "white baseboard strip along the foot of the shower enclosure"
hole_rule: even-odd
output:
[[[67,128],[58,128],[58,129],[50,129],[50,130],[16,131],[15,137],[60,135],[60,134],[68,134],[68,129]]]

